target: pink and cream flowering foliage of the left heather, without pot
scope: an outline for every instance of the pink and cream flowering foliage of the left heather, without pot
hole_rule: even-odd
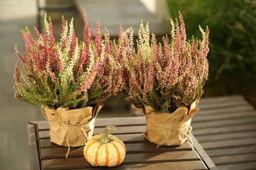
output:
[[[62,18],[59,42],[53,37],[51,18],[47,21],[46,16],[43,33],[35,28],[35,39],[28,28],[22,31],[26,53],[20,55],[15,47],[19,59],[14,71],[16,99],[54,109],[75,109],[102,103],[123,88],[116,75],[119,64],[110,55],[108,33],[104,41],[98,31],[93,41],[86,14],[84,22],[82,42],[75,35],[73,19],[68,25]]]

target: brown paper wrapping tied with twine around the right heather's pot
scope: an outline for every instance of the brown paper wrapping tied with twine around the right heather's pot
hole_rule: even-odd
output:
[[[156,113],[149,106],[135,109],[140,110],[146,115],[146,129],[143,131],[144,137],[152,143],[158,145],[181,145],[190,139],[189,133],[191,118],[199,110],[196,108],[198,101],[195,101],[188,111],[186,107],[179,107],[175,112]]]

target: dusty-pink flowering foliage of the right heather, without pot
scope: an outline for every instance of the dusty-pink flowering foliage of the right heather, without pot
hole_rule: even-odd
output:
[[[194,37],[186,41],[181,13],[179,21],[171,20],[171,26],[171,40],[163,37],[161,44],[155,35],[150,40],[149,26],[144,27],[141,22],[137,52],[131,45],[126,45],[130,48],[126,52],[133,54],[123,57],[129,73],[125,89],[129,95],[127,99],[137,107],[148,105],[156,112],[173,112],[179,107],[189,108],[202,97],[208,75],[209,30],[203,31],[200,27],[202,41]],[[127,36],[123,37],[125,40]]]

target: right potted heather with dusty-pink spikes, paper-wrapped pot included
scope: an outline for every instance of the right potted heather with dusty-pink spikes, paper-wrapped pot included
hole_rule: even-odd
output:
[[[146,115],[144,136],[159,145],[190,139],[191,118],[199,110],[196,106],[208,75],[209,30],[200,27],[203,39],[187,40],[181,13],[171,26],[171,39],[163,37],[160,44],[154,35],[150,39],[148,24],[141,23],[136,50],[131,35],[122,33],[127,46],[123,53],[129,76],[127,99]]]

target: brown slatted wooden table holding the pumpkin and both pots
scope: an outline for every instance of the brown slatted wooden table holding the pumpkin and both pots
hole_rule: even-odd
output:
[[[125,118],[96,118],[94,134],[102,133],[107,125],[117,126],[110,131],[125,143],[127,154],[121,165],[112,169],[217,169],[202,146],[190,133],[194,143],[181,146],[160,146],[150,143],[142,135],[144,116]],[[51,143],[47,121],[29,122],[28,137],[31,169],[104,169],[93,167],[83,157],[83,146],[70,148]]]

